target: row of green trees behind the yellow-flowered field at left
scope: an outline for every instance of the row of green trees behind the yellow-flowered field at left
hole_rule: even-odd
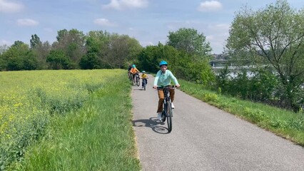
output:
[[[141,51],[135,38],[107,31],[77,29],[58,31],[56,41],[41,42],[31,35],[30,45],[15,41],[0,51],[1,71],[41,69],[123,68],[124,63]]]

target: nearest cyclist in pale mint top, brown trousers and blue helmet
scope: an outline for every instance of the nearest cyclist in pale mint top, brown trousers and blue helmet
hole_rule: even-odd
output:
[[[161,61],[159,63],[159,67],[161,68],[156,73],[156,78],[154,80],[153,88],[158,87],[166,87],[171,86],[171,81],[173,81],[174,85],[179,88],[180,85],[176,79],[175,76],[173,76],[173,73],[167,69],[168,63],[166,61]],[[174,100],[174,89],[169,89],[170,92],[170,98],[172,102],[172,108],[174,108],[173,100]],[[157,108],[157,118],[158,120],[161,120],[161,112],[163,111],[163,90],[158,90],[158,108]]]

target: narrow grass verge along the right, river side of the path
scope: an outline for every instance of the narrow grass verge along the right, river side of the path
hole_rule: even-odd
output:
[[[304,113],[228,97],[188,81],[179,83],[183,92],[304,146]]]

